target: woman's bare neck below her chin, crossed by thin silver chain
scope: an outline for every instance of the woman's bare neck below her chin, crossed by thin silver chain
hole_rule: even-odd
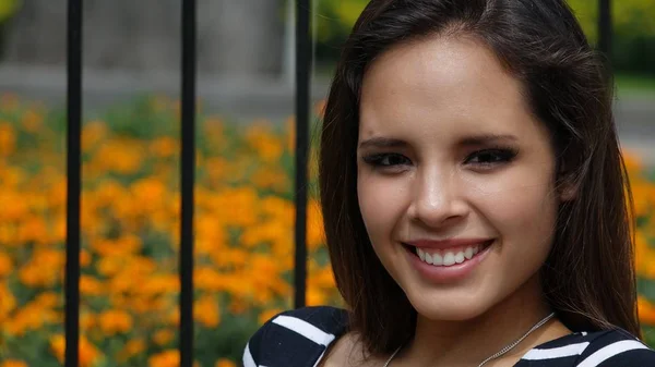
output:
[[[403,348],[397,359],[403,359],[403,366],[478,366],[487,357],[523,337],[551,313],[540,293],[535,279],[491,309],[469,320],[429,320],[418,315],[415,338]],[[569,332],[559,321],[551,319],[503,358],[519,360],[531,347]]]

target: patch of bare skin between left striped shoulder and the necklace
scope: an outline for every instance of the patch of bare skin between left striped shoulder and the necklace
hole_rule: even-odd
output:
[[[358,334],[347,332],[332,344],[318,367],[373,366],[380,366],[380,359],[365,353]]]

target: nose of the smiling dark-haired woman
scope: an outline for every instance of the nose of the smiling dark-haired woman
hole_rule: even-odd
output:
[[[464,186],[454,171],[434,169],[419,173],[408,208],[410,219],[440,228],[466,217],[469,207]]]

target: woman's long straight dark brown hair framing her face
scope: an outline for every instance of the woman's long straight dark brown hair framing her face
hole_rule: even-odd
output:
[[[630,230],[632,196],[611,111],[612,81],[564,0],[372,0],[346,41],[321,131],[319,187],[336,284],[350,328],[373,354],[410,338],[416,311],[373,252],[357,199],[362,77],[400,42],[437,34],[476,37],[522,82],[556,151],[560,205],[544,294],[573,331],[640,335]],[[626,195],[627,193],[627,195]]]

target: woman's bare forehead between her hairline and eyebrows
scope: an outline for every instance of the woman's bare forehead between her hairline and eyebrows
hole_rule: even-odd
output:
[[[365,74],[359,109],[360,139],[535,127],[520,81],[467,37],[431,36],[383,52]]]

